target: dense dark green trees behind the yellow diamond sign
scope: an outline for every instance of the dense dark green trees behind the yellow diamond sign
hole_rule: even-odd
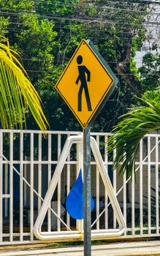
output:
[[[135,103],[134,94],[140,96],[142,80],[134,56],[145,40],[142,22],[148,13],[148,4],[105,0],[0,0],[0,8],[1,33],[9,37],[12,48],[22,56],[31,82],[42,97],[50,129],[80,129],[53,88],[82,38],[94,42],[120,80],[92,129],[110,131],[117,124],[118,116]],[[37,128],[30,116],[27,124],[28,128]]]

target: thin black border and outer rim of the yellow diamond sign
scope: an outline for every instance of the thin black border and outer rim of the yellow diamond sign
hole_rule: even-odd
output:
[[[101,64],[102,68],[104,69],[105,72],[107,72],[107,75],[109,75],[110,79],[112,80],[110,85],[108,86],[107,90],[104,92],[102,98],[100,99],[98,105],[96,105],[95,110],[93,111],[93,113],[91,114],[91,116],[88,118],[88,121],[86,121],[85,125],[82,123],[82,121],[80,121],[80,118],[78,118],[77,114],[75,113],[75,110],[72,109],[71,105],[69,105],[69,102],[67,102],[67,100],[64,98],[63,94],[61,94],[61,91],[59,91],[58,89],[58,84],[61,82],[61,79],[64,77],[64,74],[66,72],[66,70],[69,67],[69,64],[72,62],[72,59],[75,57],[75,54],[77,53],[77,50],[79,50],[80,46],[82,44],[84,44],[86,46],[88,46],[89,50],[91,50],[91,52],[94,54],[94,56],[96,57],[96,59],[99,61],[99,64]],[[88,45],[88,42],[85,41],[85,39],[82,39],[82,41],[80,42],[80,45],[77,47],[77,49],[75,50],[75,53],[73,54],[72,58],[70,59],[69,63],[66,65],[66,68],[64,69],[64,72],[62,73],[61,77],[59,78],[58,82],[56,83],[55,89],[58,91],[58,93],[61,95],[61,97],[64,99],[64,101],[66,102],[66,104],[69,106],[70,110],[72,110],[72,113],[74,113],[74,115],[76,116],[77,120],[79,121],[79,123],[81,124],[81,126],[83,127],[83,129],[85,127],[87,127],[88,123],[91,121],[91,118],[93,118],[94,114],[96,113],[96,110],[99,108],[99,106],[102,104],[104,97],[107,96],[107,92],[110,91],[110,87],[113,85],[114,83],[114,79],[112,77],[112,75],[110,75],[110,73],[108,72],[107,68],[104,66],[104,64],[102,64],[102,61],[100,61],[99,57],[96,55],[96,53],[94,52],[94,50],[91,48],[90,45]]]

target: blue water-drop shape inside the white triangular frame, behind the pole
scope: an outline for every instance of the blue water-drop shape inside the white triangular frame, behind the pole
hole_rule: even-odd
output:
[[[94,199],[91,196],[91,211],[94,209]],[[80,169],[77,181],[66,197],[66,211],[74,219],[83,219],[83,178]]]

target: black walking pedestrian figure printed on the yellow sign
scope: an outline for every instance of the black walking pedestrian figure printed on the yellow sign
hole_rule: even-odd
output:
[[[90,80],[91,80],[91,72],[88,70],[87,67],[80,65],[80,64],[82,64],[82,62],[83,62],[83,57],[81,55],[77,56],[77,64],[78,64],[77,68],[79,71],[79,75],[78,75],[75,83],[78,84],[79,81],[81,82],[80,89],[78,91],[77,110],[82,111],[82,93],[83,93],[83,89],[84,89],[88,111],[92,111],[91,100],[89,97],[88,86],[87,86],[87,82],[90,82]],[[87,80],[86,80],[85,73],[87,75]]]

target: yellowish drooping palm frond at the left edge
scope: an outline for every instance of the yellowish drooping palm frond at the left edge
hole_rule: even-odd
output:
[[[0,122],[3,128],[26,126],[26,113],[31,110],[39,128],[46,129],[47,120],[41,107],[41,100],[32,86],[19,55],[0,42]]]

